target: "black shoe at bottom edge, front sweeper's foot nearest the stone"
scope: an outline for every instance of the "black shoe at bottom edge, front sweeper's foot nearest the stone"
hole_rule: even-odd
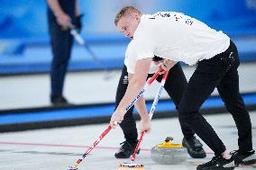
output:
[[[197,170],[233,170],[234,160],[233,157],[230,159],[224,159],[223,157],[213,157],[212,160],[206,164],[197,166]]]

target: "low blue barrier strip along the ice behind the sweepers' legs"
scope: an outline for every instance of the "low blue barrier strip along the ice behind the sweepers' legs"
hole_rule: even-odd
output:
[[[256,104],[256,94],[243,94],[244,102],[247,105]],[[147,103],[148,109],[151,108],[151,103]],[[223,108],[224,103],[220,97],[210,97],[203,104],[202,109]],[[160,101],[157,107],[157,112],[175,112],[175,105],[172,101]],[[68,108],[55,111],[44,112],[8,112],[1,113],[0,126],[7,124],[19,124],[28,122],[43,122],[43,121],[62,121],[73,119],[100,118],[111,116],[114,112],[113,104],[104,104],[98,106],[86,106],[80,108]],[[137,114],[137,112],[135,112]]]

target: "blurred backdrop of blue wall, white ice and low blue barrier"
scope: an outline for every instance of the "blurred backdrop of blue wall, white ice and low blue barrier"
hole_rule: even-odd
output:
[[[1,131],[109,119],[114,110],[124,51],[129,43],[129,39],[116,31],[114,16],[125,5],[134,5],[142,13],[185,13],[215,30],[224,31],[238,47],[242,62],[241,91],[244,97],[249,97],[245,99],[249,109],[255,109],[256,0],[79,0],[78,3],[84,25],[80,34],[100,62],[96,62],[88,50],[76,42],[64,91],[69,101],[76,105],[53,107],[49,99],[52,55],[46,1],[0,1]],[[183,67],[189,78],[193,67]],[[151,101],[154,94],[146,96]],[[162,98],[162,104],[171,103],[166,94]],[[215,92],[212,101],[204,107],[216,112],[224,105]],[[160,112],[175,110],[163,105]],[[99,121],[99,118],[105,119]]]

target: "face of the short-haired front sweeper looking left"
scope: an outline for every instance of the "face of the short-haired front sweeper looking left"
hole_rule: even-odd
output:
[[[121,31],[124,36],[133,38],[140,22],[140,15],[137,13],[127,13],[117,22],[117,30]]]

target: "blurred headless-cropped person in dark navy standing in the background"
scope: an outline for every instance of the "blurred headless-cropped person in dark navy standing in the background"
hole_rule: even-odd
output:
[[[73,37],[71,24],[82,29],[78,0],[47,0],[48,24],[52,61],[50,68],[50,103],[54,106],[69,105],[63,96],[64,80],[69,65]]]

